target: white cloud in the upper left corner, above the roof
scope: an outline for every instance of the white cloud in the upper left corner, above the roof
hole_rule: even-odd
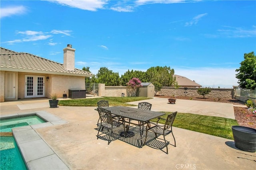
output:
[[[27,9],[24,6],[14,6],[14,7],[6,7],[1,8],[0,10],[0,18],[13,16],[13,15],[21,15],[26,13]]]

